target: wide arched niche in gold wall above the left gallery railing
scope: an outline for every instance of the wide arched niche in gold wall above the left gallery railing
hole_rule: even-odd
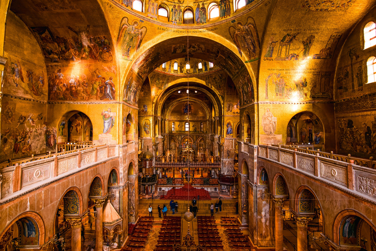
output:
[[[57,143],[93,141],[92,121],[83,112],[67,112],[62,116],[57,128]]]

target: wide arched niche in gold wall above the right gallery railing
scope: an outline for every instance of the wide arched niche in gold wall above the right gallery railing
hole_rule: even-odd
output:
[[[312,112],[294,115],[287,124],[286,135],[286,144],[325,144],[323,123]]]

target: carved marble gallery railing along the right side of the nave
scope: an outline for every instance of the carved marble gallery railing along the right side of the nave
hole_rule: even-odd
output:
[[[268,159],[352,195],[359,193],[364,200],[376,202],[376,170],[356,165],[354,161],[367,161],[365,159],[285,146],[239,144],[239,154],[253,155],[252,151],[256,149],[258,159]],[[374,161],[370,161],[374,165]]]

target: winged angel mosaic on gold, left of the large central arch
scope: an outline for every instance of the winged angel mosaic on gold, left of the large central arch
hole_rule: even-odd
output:
[[[140,50],[142,39],[145,37],[147,29],[145,26],[141,28],[139,26],[140,22],[138,20],[134,20],[132,25],[130,25],[127,17],[121,19],[117,41],[124,59],[132,60],[130,59],[131,50],[135,48],[136,51]]]

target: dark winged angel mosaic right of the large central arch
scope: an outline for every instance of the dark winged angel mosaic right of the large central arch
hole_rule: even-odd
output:
[[[247,18],[247,23],[243,25],[241,21],[234,26],[230,26],[229,32],[234,40],[240,56],[248,58],[256,56],[257,47],[260,48],[260,38],[258,37],[255,20],[252,17]]]

